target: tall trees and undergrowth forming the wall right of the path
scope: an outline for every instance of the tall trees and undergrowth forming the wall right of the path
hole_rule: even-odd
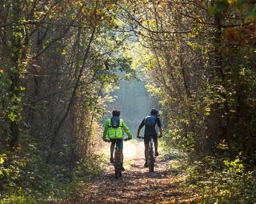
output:
[[[167,146],[187,156],[187,182],[201,203],[254,203],[255,2],[141,2],[126,5],[145,46],[137,63]]]

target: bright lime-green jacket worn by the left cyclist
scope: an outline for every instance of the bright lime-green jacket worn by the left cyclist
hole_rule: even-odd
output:
[[[126,123],[122,120],[122,118],[120,118],[120,126],[119,126],[119,128],[112,128],[111,127],[111,119],[109,118],[108,120],[106,120],[102,139],[106,139],[106,135],[108,135],[108,137],[110,139],[122,139],[123,138],[123,131],[126,132],[126,134],[128,135],[129,139],[132,138],[130,130],[126,126]]]

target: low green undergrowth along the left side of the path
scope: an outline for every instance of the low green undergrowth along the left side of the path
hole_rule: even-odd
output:
[[[6,155],[1,156],[0,203],[38,203],[54,202],[59,198],[70,198],[88,179],[98,175],[104,165],[102,156],[91,155],[82,159],[75,167],[53,166],[41,159],[36,148],[26,152],[33,157],[24,160],[20,155],[13,155],[14,163],[2,168]],[[10,157],[9,157],[10,159]]]

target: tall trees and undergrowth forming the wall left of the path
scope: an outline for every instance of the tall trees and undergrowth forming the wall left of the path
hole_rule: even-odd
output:
[[[102,168],[102,91],[135,78],[113,1],[0,2],[1,203],[54,202]],[[119,74],[122,73],[122,74]]]

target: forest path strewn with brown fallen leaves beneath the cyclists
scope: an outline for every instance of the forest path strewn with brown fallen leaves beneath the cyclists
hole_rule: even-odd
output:
[[[157,158],[154,173],[149,173],[143,168],[143,143],[127,142],[124,148],[126,171],[121,179],[114,178],[110,165],[66,203],[196,203],[196,196],[178,187],[182,179],[168,171],[168,160]]]

